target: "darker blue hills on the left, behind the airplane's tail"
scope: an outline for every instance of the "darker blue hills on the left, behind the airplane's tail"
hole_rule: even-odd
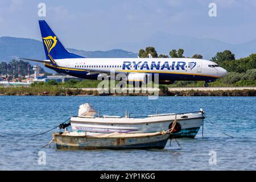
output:
[[[72,53],[84,57],[137,57],[137,53],[124,51],[122,49],[113,49],[110,51],[82,51],[68,48]],[[13,38],[8,36],[0,37],[0,61],[9,62],[16,57],[28,59],[46,59],[43,43],[39,40],[27,38]],[[29,61],[31,64],[38,64]],[[39,64],[43,67],[43,64]],[[43,67],[47,72],[53,72],[51,69]]]

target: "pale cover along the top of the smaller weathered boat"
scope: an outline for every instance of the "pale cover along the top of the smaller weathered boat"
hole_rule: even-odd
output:
[[[86,135],[85,132],[65,132],[62,135],[71,137],[94,137],[94,138],[133,138],[133,137],[150,137],[155,135],[164,135],[166,131],[158,131],[154,133],[110,133],[110,134],[96,134],[96,135]]]

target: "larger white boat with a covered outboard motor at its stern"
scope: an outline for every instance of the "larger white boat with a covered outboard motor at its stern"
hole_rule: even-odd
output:
[[[97,112],[89,104],[80,106],[79,116],[71,118],[73,131],[86,132],[89,134],[108,134],[108,133],[154,133],[157,131],[168,130],[172,123],[177,119],[177,131],[171,135],[175,138],[189,137],[194,138],[203,123],[204,111],[193,113],[168,113],[153,114],[145,117],[125,117],[103,115],[95,116]]]

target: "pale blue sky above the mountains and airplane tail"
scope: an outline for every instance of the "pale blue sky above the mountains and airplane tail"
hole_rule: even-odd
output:
[[[38,16],[41,2],[45,17]],[[212,2],[215,17],[208,14]],[[255,9],[253,0],[1,0],[0,36],[41,40],[38,20],[46,19],[66,47],[85,51],[106,51],[157,32],[238,44],[256,39]]]

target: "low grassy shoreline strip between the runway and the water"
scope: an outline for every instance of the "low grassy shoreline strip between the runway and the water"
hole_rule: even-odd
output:
[[[150,96],[150,93],[98,93],[97,90],[80,88],[42,87],[1,87],[1,96]],[[159,96],[256,96],[256,90],[180,90],[170,91],[159,88]]]

